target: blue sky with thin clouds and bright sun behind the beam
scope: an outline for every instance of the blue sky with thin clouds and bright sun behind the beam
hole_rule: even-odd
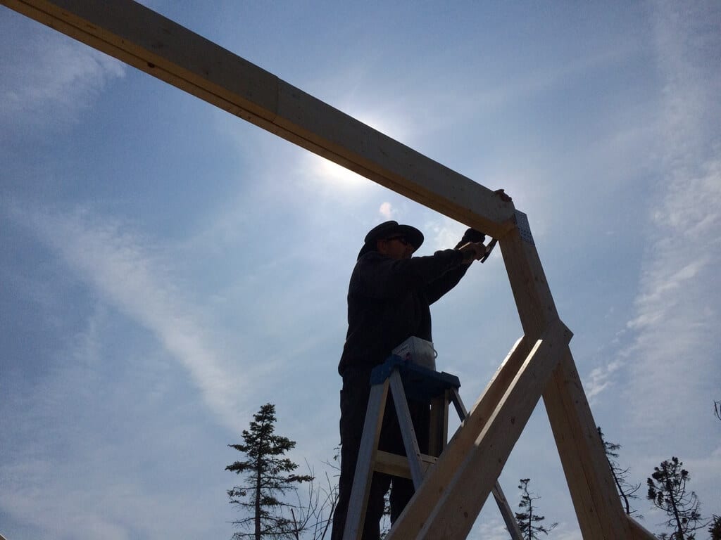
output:
[[[528,215],[596,423],[721,513],[721,4],[147,2]],[[261,405],[322,477],[366,232],[465,225],[0,7],[0,534],[229,539]],[[432,307],[477,400],[521,325],[496,250]],[[332,471],[331,471],[332,472]],[[581,538],[542,405],[500,476]],[[706,538],[705,531],[699,538]],[[492,501],[469,538],[507,538]]]

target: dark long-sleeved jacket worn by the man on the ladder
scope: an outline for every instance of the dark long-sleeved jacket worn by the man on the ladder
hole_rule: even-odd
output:
[[[348,286],[348,334],[338,372],[372,369],[410,336],[433,341],[429,306],[458,284],[468,269],[460,251],[401,260],[366,253]]]

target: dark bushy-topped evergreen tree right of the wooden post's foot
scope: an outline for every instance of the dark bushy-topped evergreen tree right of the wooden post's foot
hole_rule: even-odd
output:
[[[668,516],[666,526],[674,529],[671,540],[693,540],[694,531],[704,525],[699,523],[699,498],[696,493],[686,491],[686,482],[691,480],[689,472],[681,468],[684,462],[676,456],[671,461],[661,462],[653,467],[653,474],[647,480],[648,500]]]

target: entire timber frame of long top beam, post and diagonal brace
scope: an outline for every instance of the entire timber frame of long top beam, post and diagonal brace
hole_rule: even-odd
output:
[[[622,509],[571,332],[512,203],[131,0],[0,3],[498,239],[523,336],[387,539],[465,539],[541,396],[583,538],[654,538]]]

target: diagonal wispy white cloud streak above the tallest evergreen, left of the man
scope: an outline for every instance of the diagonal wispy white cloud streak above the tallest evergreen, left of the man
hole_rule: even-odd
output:
[[[211,346],[208,324],[198,307],[186,300],[162,246],[88,211],[16,208],[12,213],[105,301],[150,330],[187,369],[218,421],[237,428],[239,412],[244,410],[239,396],[248,382],[231,372]]]

